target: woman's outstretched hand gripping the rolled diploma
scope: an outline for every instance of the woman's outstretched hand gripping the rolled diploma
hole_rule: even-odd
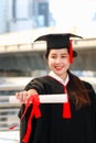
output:
[[[15,92],[15,97],[18,100],[20,100],[21,103],[26,102],[28,98],[34,95],[39,95],[38,91],[35,89],[30,89],[28,91],[20,91],[20,92]]]

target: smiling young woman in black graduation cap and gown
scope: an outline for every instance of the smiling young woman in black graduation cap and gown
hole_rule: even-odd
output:
[[[82,81],[70,72],[73,34],[47,34],[36,41],[46,41],[46,61],[50,74],[31,80],[25,90],[17,94],[20,101],[32,95],[67,94],[67,103],[41,103],[40,118],[33,117],[32,130],[26,143],[95,143],[96,142],[96,94],[90,84]],[[54,97],[55,98],[55,97]],[[21,107],[19,117],[25,107]],[[32,105],[21,121],[21,143],[25,135]]]

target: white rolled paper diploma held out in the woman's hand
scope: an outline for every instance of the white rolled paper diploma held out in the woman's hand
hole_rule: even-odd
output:
[[[58,95],[40,95],[40,102],[41,103],[62,103],[67,102],[67,95],[66,94],[58,94]],[[9,103],[21,103],[15,96],[9,97]]]

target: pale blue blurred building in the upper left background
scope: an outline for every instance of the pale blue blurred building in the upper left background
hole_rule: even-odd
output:
[[[49,0],[1,0],[0,33],[54,25]]]

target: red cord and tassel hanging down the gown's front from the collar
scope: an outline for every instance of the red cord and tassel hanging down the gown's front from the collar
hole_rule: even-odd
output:
[[[64,91],[67,95],[67,102],[63,103],[63,118],[71,119],[71,105],[68,101],[68,94],[66,86],[64,86]]]

